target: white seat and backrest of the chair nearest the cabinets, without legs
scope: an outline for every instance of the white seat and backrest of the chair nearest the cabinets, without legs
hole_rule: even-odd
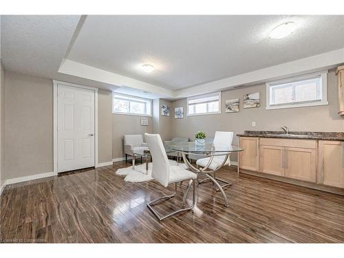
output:
[[[215,138],[214,138],[214,144],[219,144],[219,145],[232,145],[232,140],[233,140],[233,131],[217,131],[215,132]],[[214,170],[217,169],[218,166],[220,166],[222,164],[222,162],[224,162],[224,158],[226,157],[226,155],[218,155],[215,156],[213,158],[213,160],[211,161],[211,164],[209,166],[209,169]],[[206,166],[206,164],[208,164],[209,161],[209,157],[208,158],[201,158],[199,160],[196,161],[197,166]],[[229,156],[228,159],[225,162],[225,165],[230,166],[230,160],[229,160]]]

